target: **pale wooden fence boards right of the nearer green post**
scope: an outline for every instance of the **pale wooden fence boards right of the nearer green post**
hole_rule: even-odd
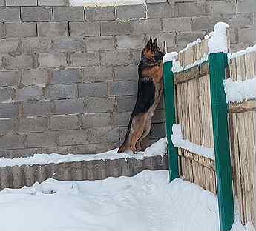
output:
[[[256,53],[232,58],[229,63],[233,81],[256,76]],[[230,135],[234,170],[234,193],[240,205],[243,224],[256,227],[256,101],[229,105]]]

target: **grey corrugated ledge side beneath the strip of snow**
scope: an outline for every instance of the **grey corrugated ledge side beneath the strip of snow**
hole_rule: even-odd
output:
[[[137,160],[124,158],[116,160],[79,161],[61,164],[22,165],[13,167],[0,167],[0,190],[31,186],[36,181],[42,182],[47,178],[57,180],[100,180],[121,175],[132,176],[142,170],[167,170],[168,155]]]

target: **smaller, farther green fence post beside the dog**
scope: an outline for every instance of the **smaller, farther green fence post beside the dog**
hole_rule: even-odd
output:
[[[174,73],[171,71],[172,61],[163,64],[163,89],[166,115],[166,133],[168,140],[170,181],[179,177],[178,150],[171,141],[172,125],[175,123]]]

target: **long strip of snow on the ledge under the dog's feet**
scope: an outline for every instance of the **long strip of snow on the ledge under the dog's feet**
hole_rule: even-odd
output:
[[[50,163],[63,163],[63,162],[77,162],[77,161],[96,161],[96,160],[115,160],[119,158],[136,158],[142,160],[155,155],[165,155],[167,153],[167,139],[161,138],[156,143],[148,147],[144,152],[139,152],[137,155],[133,153],[117,153],[117,149],[110,150],[106,153],[99,154],[68,154],[60,155],[56,153],[52,154],[34,154],[31,157],[24,158],[0,158],[0,167],[7,166],[22,166],[22,165],[34,165],[34,164],[50,164]]]

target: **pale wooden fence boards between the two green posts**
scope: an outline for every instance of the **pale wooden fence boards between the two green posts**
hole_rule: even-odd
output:
[[[179,53],[182,67],[194,64],[208,53],[208,39]],[[194,144],[214,147],[211,119],[211,94],[209,64],[204,63],[180,73],[175,73],[177,123],[183,138]],[[188,181],[216,192],[214,161],[179,148],[180,173]]]

